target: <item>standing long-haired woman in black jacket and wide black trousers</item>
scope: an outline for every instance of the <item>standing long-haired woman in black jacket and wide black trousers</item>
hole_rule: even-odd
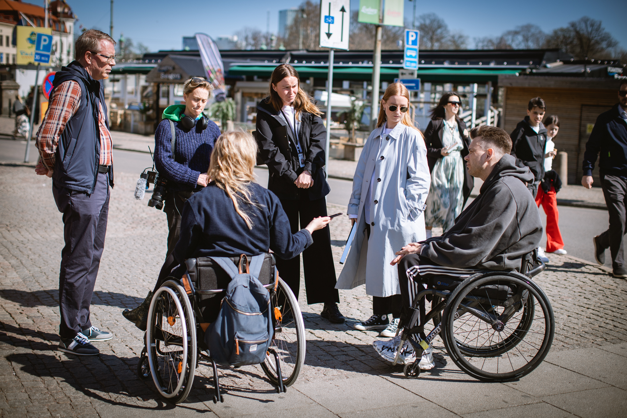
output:
[[[322,112],[300,88],[293,66],[278,65],[272,72],[270,95],[257,106],[256,140],[258,162],[268,165],[268,189],[281,201],[292,233],[315,217],[327,216],[325,196],[329,194],[324,169],[326,128]],[[343,323],[336,303],[335,266],[329,229],[313,235],[314,244],[303,252],[307,303],[324,303],[320,315],[333,323]],[[300,257],[277,259],[281,278],[298,298]]]

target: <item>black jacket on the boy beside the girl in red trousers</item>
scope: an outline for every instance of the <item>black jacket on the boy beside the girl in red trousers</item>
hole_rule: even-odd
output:
[[[510,135],[512,152],[518,167],[529,167],[534,174],[534,183],[544,179],[544,147],[547,144],[547,128],[540,122],[538,133],[529,125],[529,116],[525,116]]]

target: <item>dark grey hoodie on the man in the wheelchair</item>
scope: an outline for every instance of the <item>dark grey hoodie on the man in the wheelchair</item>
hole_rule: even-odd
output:
[[[520,270],[522,256],[542,238],[540,212],[524,184],[533,180],[529,167],[503,155],[455,225],[423,241],[420,255],[448,267]]]

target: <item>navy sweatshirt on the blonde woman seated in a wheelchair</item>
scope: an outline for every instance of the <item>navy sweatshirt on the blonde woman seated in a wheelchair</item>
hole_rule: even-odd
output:
[[[215,182],[190,197],[183,207],[181,236],[174,258],[256,256],[274,251],[282,259],[294,258],[314,243],[307,229],[295,234],[278,197],[256,183],[249,186],[251,201],[239,201],[240,209],[250,216],[253,229],[235,211],[233,201]]]

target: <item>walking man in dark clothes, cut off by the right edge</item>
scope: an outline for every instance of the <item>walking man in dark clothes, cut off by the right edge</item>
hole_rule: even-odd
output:
[[[601,113],[594,123],[584,153],[581,184],[592,187],[592,170],[600,153],[599,176],[603,196],[609,211],[609,228],[594,237],[594,257],[603,266],[605,250],[612,256],[614,277],[627,277],[624,266],[623,236],[625,234],[625,205],[627,202],[627,81],[618,87],[618,103]]]

